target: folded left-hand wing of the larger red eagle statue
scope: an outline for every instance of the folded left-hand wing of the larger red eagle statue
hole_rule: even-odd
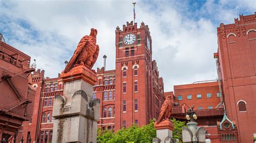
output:
[[[77,45],[76,51],[74,52],[72,58],[70,59],[68,65],[66,65],[64,72],[68,72],[73,65],[75,64],[75,61],[79,55],[79,53],[82,51],[82,49],[85,47],[85,45],[87,44],[89,40],[89,35],[85,35],[79,42],[79,44]]]

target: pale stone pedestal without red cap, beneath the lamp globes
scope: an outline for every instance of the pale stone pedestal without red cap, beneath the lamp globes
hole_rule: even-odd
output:
[[[189,121],[187,127],[182,127],[183,142],[205,142],[205,128],[197,127],[196,121]]]

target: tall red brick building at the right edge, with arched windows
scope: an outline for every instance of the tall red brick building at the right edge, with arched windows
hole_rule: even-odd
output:
[[[237,124],[239,142],[256,134],[256,12],[240,15],[234,24],[220,24],[214,53],[227,117]]]

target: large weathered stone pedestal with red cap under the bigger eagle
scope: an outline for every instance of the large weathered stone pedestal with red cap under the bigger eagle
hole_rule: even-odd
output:
[[[63,96],[53,101],[52,142],[97,142],[99,99],[92,99],[96,74],[84,66],[62,73]]]

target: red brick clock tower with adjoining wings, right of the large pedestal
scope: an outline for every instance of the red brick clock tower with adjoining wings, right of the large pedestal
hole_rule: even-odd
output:
[[[157,118],[164,100],[163,78],[152,61],[149,27],[133,22],[116,28],[116,69],[97,69],[98,127],[119,130]]]

